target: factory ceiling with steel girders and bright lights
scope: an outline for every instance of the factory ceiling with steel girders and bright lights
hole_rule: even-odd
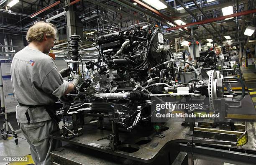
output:
[[[233,13],[239,13],[253,10],[256,6],[254,0],[162,0],[167,8],[156,10],[138,0],[19,0],[12,8],[7,8],[9,1],[0,0],[0,33],[25,35],[36,21],[46,20],[73,8],[77,16],[76,21],[83,25],[85,36],[97,38],[99,35],[113,33],[129,26],[152,23],[161,27],[165,38],[169,40],[190,37],[189,27],[168,30],[180,25],[177,20],[182,20],[184,25],[221,17],[221,9],[224,7],[233,6]],[[65,29],[65,18],[65,15],[62,15],[51,23],[59,29]],[[247,25],[256,25],[255,13],[196,25],[194,34],[201,42],[207,42],[207,38],[221,42],[225,40],[224,36],[230,36],[236,42],[246,42],[248,37],[243,35],[243,31]],[[254,35],[251,39],[255,38]]]

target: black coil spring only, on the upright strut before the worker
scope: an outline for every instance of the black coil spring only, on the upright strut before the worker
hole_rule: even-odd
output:
[[[81,37],[79,35],[74,34],[74,35],[70,36],[70,40],[68,41],[68,43],[70,45],[67,47],[69,50],[68,53],[71,54],[71,59],[73,61],[78,61],[78,59],[79,59],[78,52],[79,52],[80,45],[78,43],[81,41],[80,38]]]

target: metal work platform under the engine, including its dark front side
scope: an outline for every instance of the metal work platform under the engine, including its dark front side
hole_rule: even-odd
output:
[[[169,129],[167,129],[169,128]],[[118,150],[111,151],[105,147],[109,145],[108,140],[100,140],[102,137],[108,136],[111,131],[97,129],[97,124],[89,124],[84,128],[84,134],[69,140],[67,146],[61,147],[51,152],[51,160],[59,164],[155,164],[166,163],[171,164],[182,148],[188,147],[187,143],[192,144],[192,131],[189,127],[182,127],[181,123],[168,122],[163,129],[164,138],[151,135],[151,131],[134,130],[134,132],[120,132],[120,139],[123,143]],[[166,130],[164,130],[166,129]],[[236,151],[242,153],[250,153],[243,157],[245,162],[256,161],[256,123],[247,123],[248,142],[241,147],[230,146],[229,142],[221,140],[211,140],[207,138],[194,137],[193,143],[211,145],[214,147],[221,146],[229,152]],[[55,139],[64,140],[57,135],[51,135]],[[130,137],[124,139],[124,137]],[[65,140],[64,140],[65,141]],[[144,144],[146,143],[146,144]],[[214,143],[223,144],[215,145]],[[225,145],[226,144],[226,145]],[[186,148],[187,148],[186,147]],[[187,151],[189,149],[186,149]],[[196,148],[198,150],[198,148]],[[168,156],[169,155],[169,156]],[[220,157],[222,154],[220,153]],[[171,156],[171,157],[170,157]],[[234,158],[236,159],[236,158]],[[62,161],[65,161],[63,163]]]

